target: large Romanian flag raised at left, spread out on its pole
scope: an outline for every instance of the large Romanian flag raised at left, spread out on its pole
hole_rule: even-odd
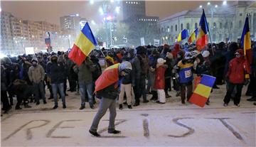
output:
[[[80,66],[96,45],[97,41],[92,34],[89,24],[85,23],[78,38],[75,40],[72,50],[68,54],[68,58]]]

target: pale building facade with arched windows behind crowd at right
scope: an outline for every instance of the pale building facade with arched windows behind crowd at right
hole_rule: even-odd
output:
[[[250,33],[254,38],[256,6],[252,1],[236,1],[225,9],[205,9],[210,39],[213,43],[230,40],[237,41],[242,35],[245,17],[249,13]],[[181,11],[159,21],[161,43],[175,43],[178,33],[186,28],[188,34],[198,28],[202,9]],[[184,41],[186,42],[186,40]]]

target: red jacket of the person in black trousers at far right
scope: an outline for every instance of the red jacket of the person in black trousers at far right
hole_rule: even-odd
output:
[[[245,81],[245,74],[249,73],[247,62],[244,58],[234,58],[228,65],[227,76],[229,82],[233,84],[242,84]]]

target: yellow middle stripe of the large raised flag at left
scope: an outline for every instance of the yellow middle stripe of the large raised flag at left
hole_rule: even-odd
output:
[[[77,45],[86,56],[95,48],[95,45],[82,32],[80,32],[78,38],[75,40],[75,45]]]

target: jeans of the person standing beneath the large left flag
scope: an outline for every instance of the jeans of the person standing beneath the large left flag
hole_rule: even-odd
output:
[[[92,101],[92,82],[89,84],[79,83],[79,92],[81,97],[81,106],[85,106],[85,92],[89,98],[89,103],[93,104]]]

